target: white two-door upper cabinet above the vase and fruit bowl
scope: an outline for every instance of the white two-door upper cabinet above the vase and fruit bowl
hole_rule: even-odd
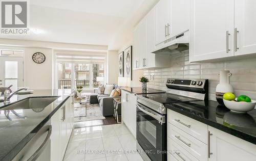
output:
[[[253,0],[192,0],[189,61],[256,53]]]

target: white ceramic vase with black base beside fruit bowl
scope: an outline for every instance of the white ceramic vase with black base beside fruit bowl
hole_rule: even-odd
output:
[[[216,99],[221,105],[224,105],[223,95],[227,92],[230,92],[230,93],[234,92],[232,85],[230,85],[231,75],[232,74],[230,73],[229,70],[220,71],[220,83],[216,87]]]

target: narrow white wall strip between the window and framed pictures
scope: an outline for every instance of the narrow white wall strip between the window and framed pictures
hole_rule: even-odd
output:
[[[118,83],[118,51],[109,50],[106,53],[106,83]]]

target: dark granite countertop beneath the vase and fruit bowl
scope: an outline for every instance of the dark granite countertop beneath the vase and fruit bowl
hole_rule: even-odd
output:
[[[256,109],[247,114],[233,113],[213,100],[173,103],[165,104],[165,106],[170,110],[256,144]]]

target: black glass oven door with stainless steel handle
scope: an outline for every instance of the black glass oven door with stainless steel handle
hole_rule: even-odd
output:
[[[152,161],[166,160],[167,128],[165,115],[160,115],[138,102],[136,106],[138,144]]]

